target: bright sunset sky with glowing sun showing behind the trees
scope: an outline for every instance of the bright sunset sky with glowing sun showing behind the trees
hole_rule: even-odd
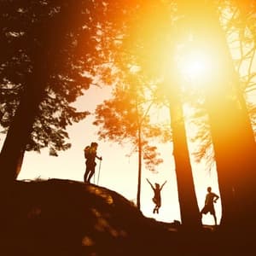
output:
[[[91,31],[94,31],[95,29],[95,34],[93,34],[93,36],[90,35],[90,39],[93,38],[94,43],[96,44],[96,60],[90,59],[91,63],[93,63],[91,64],[93,67],[90,67],[92,71],[90,70],[90,68],[88,68],[91,73],[87,70],[84,70],[84,73],[81,73],[89,73],[90,79],[93,76],[94,79],[102,79],[102,84],[108,84],[108,80],[112,81],[112,77],[111,79],[109,79],[108,76],[114,74],[118,77],[118,79],[116,79],[113,75],[113,84],[114,82],[116,83],[116,80],[118,80],[121,86],[126,83],[132,87],[132,79],[136,77],[137,73],[140,73],[140,71],[143,70],[142,73],[140,73],[141,76],[138,75],[137,80],[135,80],[136,82],[142,81],[141,84],[134,83],[136,84],[136,86],[134,86],[135,90],[132,87],[132,89],[137,92],[141,89],[140,86],[142,85],[141,87],[143,88],[144,98],[143,101],[139,103],[141,104],[141,106],[143,106],[140,106],[143,111],[145,110],[145,106],[148,102],[155,103],[155,105],[153,103],[152,105],[155,109],[158,109],[158,107],[155,107],[157,103],[161,102],[161,104],[164,105],[166,104],[166,102],[168,102],[168,104],[171,102],[171,106],[172,99],[176,98],[179,100],[180,96],[183,97],[181,100],[181,104],[184,103],[184,116],[189,115],[189,113],[193,111],[193,108],[191,107],[193,104],[191,102],[204,102],[203,104],[198,105],[200,105],[200,108],[203,105],[204,111],[206,111],[207,104],[205,104],[205,102],[207,102],[208,100],[208,105],[211,105],[213,101],[209,101],[209,99],[212,97],[212,94],[214,94],[215,101],[216,99],[218,99],[219,95],[223,96],[224,100],[223,105],[218,105],[218,101],[213,102],[211,107],[213,105],[214,106],[207,109],[208,116],[210,116],[211,112],[209,111],[209,109],[214,109],[214,111],[218,109],[216,112],[213,111],[215,114],[214,117],[218,117],[218,113],[221,113],[223,110],[221,109],[222,106],[238,106],[239,104],[241,104],[239,96],[241,96],[241,98],[243,96],[246,96],[246,103],[255,103],[256,93],[252,90],[250,94],[247,94],[242,86],[241,88],[239,87],[241,85],[241,82],[246,84],[248,74],[255,75],[255,38],[253,38],[253,32],[245,30],[245,38],[243,38],[244,41],[242,41],[241,39],[240,42],[240,27],[235,27],[230,30],[230,32],[226,32],[226,34],[224,34],[225,32],[222,31],[222,26],[226,26],[228,24],[233,9],[229,9],[229,6],[223,7],[222,15],[220,15],[216,19],[217,9],[214,9],[214,12],[211,12],[212,9],[206,5],[205,10],[198,10],[194,7],[194,12],[191,11],[190,13],[188,5],[189,2],[187,2],[187,9],[181,8],[184,14],[182,16],[182,20],[180,14],[178,12],[175,13],[176,9],[173,9],[172,3],[167,4],[169,3],[168,1],[160,1],[160,3],[161,5],[157,5],[157,7],[160,6],[160,9],[156,11],[152,9],[152,6],[150,4],[148,4],[148,6],[147,4],[145,4],[145,9],[139,9],[138,5],[134,9],[134,11],[138,11],[138,13],[136,13],[136,15],[134,16],[132,16],[131,14],[131,16],[129,16],[129,12],[124,9],[124,13],[122,15],[124,15],[124,17],[126,17],[127,15],[129,19],[131,19],[131,24],[129,23],[129,21],[127,21],[129,20],[127,17],[125,18],[127,19],[127,27],[123,28],[123,23],[117,22],[119,23],[118,25],[121,28],[119,28],[119,31],[116,32],[116,34],[115,30],[113,29],[114,26],[109,26],[109,28],[106,25],[108,24],[108,20],[105,24],[106,31],[104,31],[103,22],[102,24],[94,24],[94,28],[91,29]],[[185,3],[185,1],[183,3]],[[204,3],[204,1],[202,1],[202,3]],[[108,7],[107,3],[101,4],[103,6],[106,5],[106,8]],[[167,4],[166,6],[168,6],[168,8],[170,9],[164,8],[165,4]],[[185,7],[186,4],[184,4]],[[221,5],[221,3],[218,4]],[[192,6],[193,4],[191,4],[190,7]],[[211,4],[211,7],[212,6],[213,5]],[[214,6],[214,8],[217,7]],[[119,12],[119,15],[120,13],[122,12]],[[90,12],[88,12],[88,16],[89,14]],[[195,20],[192,20],[191,17],[194,17]],[[190,19],[193,21],[192,23]],[[218,24],[218,19],[222,20],[222,26],[220,26],[220,23]],[[138,23],[137,20],[139,20]],[[202,24],[202,20],[205,22],[205,24]],[[124,24],[126,21],[124,21]],[[90,31],[88,24],[81,27],[83,27],[83,30],[88,29],[88,31]],[[111,34],[112,31],[109,32],[108,29],[113,29],[113,35]],[[129,29],[131,29],[131,31],[129,31]],[[108,33],[110,34],[110,36],[108,35]],[[111,38],[113,36],[116,37],[114,38],[114,40],[113,38]],[[125,36],[127,36],[127,38],[125,38]],[[239,44],[238,42],[241,44]],[[73,44],[75,45],[77,44],[77,42],[74,41]],[[82,45],[84,47],[84,44]],[[106,47],[106,49],[104,47]],[[127,50],[129,54],[126,54],[124,49]],[[253,54],[251,49],[254,49]],[[121,50],[124,50],[125,53],[119,52]],[[87,58],[87,55],[83,56],[86,56]],[[243,58],[239,62],[241,56],[247,57]],[[104,62],[106,61],[104,59],[105,57],[107,62]],[[121,61],[119,61],[119,58]],[[234,60],[236,60],[236,65],[234,64]],[[82,70],[84,69],[84,63],[90,63],[90,61],[86,59],[86,61],[82,62]],[[234,63],[232,61],[234,61]],[[112,64],[109,64],[110,62]],[[118,62],[121,62],[121,64]],[[237,62],[240,63],[240,66],[237,64]],[[109,73],[107,75],[106,73],[104,73],[106,72],[105,69],[110,70],[110,72],[108,70],[110,75]],[[79,73],[79,75],[81,75],[81,73]],[[117,75],[117,73],[119,73],[119,76]],[[83,77],[83,75],[81,75],[81,77]],[[148,87],[145,84],[147,84]],[[239,86],[237,86],[237,84]],[[81,111],[88,110],[93,113],[98,104],[102,103],[105,99],[111,97],[111,90],[111,87],[107,85],[102,86],[101,88],[101,86],[97,87],[96,85],[92,84],[89,90],[84,90],[84,96],[80,96],[77,101],[73,103],[73,106]],[[124,91],[126,93],[126,90]],[[152,95],[148,96],[147,98],[148,91],[153,92]],[[155,98],[157,98],[157,100],[155,100]],[[201,100],[202,98],[203,100]],[[234,105],[229,105],[228,103],[225,105],[226,102],[232,102],[232,104],[234,103]],[[179,102],[177,103],[177,105],[178,104]],[[175,107],[177,107],[177,105]],[[237,106],[236,108],[240,108]],[[227,116],[233,114],[232,109],[228,107],[224,112],[224,119]],[[161,112],[164,111],[162,108],[164,107],[160,107],[160,109],[158,110],[160,112],[157,113],[155,116],[150,113],[151,115],[149,114],[150,118],[148,119],[150,119],[151,121],[152,118],[158,121],[159,119],[164,118],[167,120],[166,122],[169,125],[170,114],[167,113],[165,117],[165,113]],[[169,111],[169,109],[167,110]],[[138,112],[139,111],[137,111],[137,113]],[[236,114],[235,111],[234,113]],[[183,116],[181,117],[181,119],[183,121]],[[209,170],[207,164],[204,161],[200,164],[195,163],[195,159],[192,156],[192,153],[195,149],[195,143],[192,143],[191,140],[189,140],[192,137],[193,132],[195,131],[195,126],[191,125],[188,119],[185,118],[184,120],[188,137],[190,161],[194,176],[195,192],[197,195],[198,206],[201,209],[204,206],[205,196],[207,194],[207,187],[211,186],[212,192],[219,195],[218,177],[216,174],[217,172],[215,170],[215,166],[213,166],[212,169]],[[198,120],[201,119],[198,118]],[[97,153],[99,156],[102,156],[102,162],[100,163],[100,161],[97,160],[96,175],[95,177],[92,177],[91,181],[108,189],[113,189],[119,194],[124,195],[125,198],[127,198],[129,201],[133,201],[134,203],[136,203],[138,175],[137,154],[133,154],[130,157],[127,156],[127,154],[131,153],[131,145],[129,144],[120,146],[117,143],[100,141],[99,137],[97,136],[98,128],[95,125],[92,125],[93,121],[94,116],[92,114],[78,124],[74,124],[68,127],[67,131],[70,137],[69,142],[72,143],[72,148],[68,149],[65,152],[59,152],[58,157],[49,156],[48,148],[42,150],[40,154],[34,152],[26,152],[23,166],[21,168],[18,179],[25,180],[37,178],[61,178],[83,182],[85,170],[84,147],[90,145],[91,142],[97,142],[99,144]],[[177,121],[177,117],[175,121]],[[221,128],[223,126],[219,125],[219,127]],[[228,125],[227,127],[230,128],[230,126]],[[225,132],[231,130],[228,130],[228,128]],[[215,131],[218,131],[218,129],[216,129]],[[206,129],[205,132],[207,132]],[[180,133],[182,134],[182,132]],[[225,133],[220,130],[217,133],[219,133],[217,136],[217,141],[222,142],[222,135]],[[253,142],[253,133],[251,134]],[[0,146],[2,146],[4,135],[2,134],[0,138]],[[179,141],[179,143],[181,141]],[[183,143],[182,141],[182,143],[180,144],[183,145],[185,143]],[[177,198],[177,179],[172,155],[172,142],[166,144],[157,144],[156,146],[159,148],[161,157],[164,162],[160,164],[160,166],[156,167],[157,172],[149,172],[145,168],[145,166],[143,166],[141,208],[143,214],[150,218],[156,218],[157,220],[166,222],[172,222],[175,219],[180,220],[181,218],[179,212],[179,203]],[[183,151],[181,150],[181,152]],[[224,160],[226,160],[226,154],[224,154]],[[158,215],[153,214],[152,212],[154,208],[154,203],[152,202],[153,191],[146,182],[146,178],[148,178],[151,183],[161,184],[167,181],[165,187],[161,191],[162,207],[160,208],[160,213]],[[97,183],[98,179],[99,183]],[[221,199],[218,200],[215,206],[219,223],[221,218]],[[207,216],[204,216],[202,220],[204,224],[213,224],[213,218],[209,214],[207,214]]]

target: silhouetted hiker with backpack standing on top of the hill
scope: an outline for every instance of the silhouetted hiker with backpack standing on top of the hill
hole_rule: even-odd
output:
[[[86,159],[84,183],[86,182],[90,183],[90,178],[95,173],[95,167],[96,167],[95,159],[97,158],[98,160],[102,160],[102,157],[97,156],[97,147],[98,147],[98,143],[90,143],[90,146],[86,146],[84,148],[84,158]]]

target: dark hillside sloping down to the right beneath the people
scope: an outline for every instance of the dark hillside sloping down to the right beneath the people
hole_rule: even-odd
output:
[[[206,228],[184,231],[177,224],[143,217],[137,207],[112,190],[59,179],[15,182],[2,201],[0,234],[3,256],[251,252],[236,236]]]

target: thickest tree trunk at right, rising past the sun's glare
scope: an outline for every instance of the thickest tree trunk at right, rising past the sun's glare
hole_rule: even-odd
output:
[[[256,214],[256,147],[239,77],[212,2],[180,2],[195,38],[221,56],[206,102],[223,206],[221,224],[249,227]]]

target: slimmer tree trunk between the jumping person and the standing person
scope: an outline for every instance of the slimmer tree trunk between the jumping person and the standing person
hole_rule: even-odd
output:
[[[196,229],[201,225],[199,207],[195,195],[189,148],[183,119],[183,107],[178,85],[172,84],[170,116],[173,140],[173,156],[177,176],[177,192],[183,227]]]

